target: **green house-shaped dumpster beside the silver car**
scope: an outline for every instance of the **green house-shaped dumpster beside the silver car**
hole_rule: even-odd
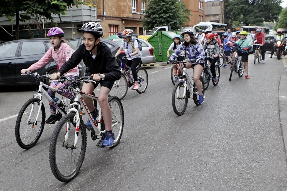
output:
[[[154,46],[154,56],[157,62],[167,62],[167,50],[173,43],[173,37],[176,33],[171,31],[157,31],[150,38],[148,42]],[[172,54],[172,51],[170,51]]]

